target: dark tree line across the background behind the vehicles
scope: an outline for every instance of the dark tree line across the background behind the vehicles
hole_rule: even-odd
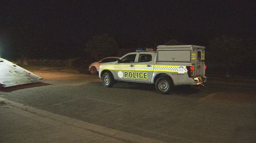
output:
[[[83,61],[90,63],[107,56],[117,56],[118,49],[123,48],[119,45],[119,42],[116,38],[107,34],[96,35],[88,39],[87,42],[81,42],[80,44],[70,41],[67,41],[67,43],[59,43],[58,41],[24,43],[16,40],[10,42],[8,48],[1,48],[0,51],[3,58],[14,61],[17,59],[68,60],[76,58],[78,59],[78,65],[82,65]],[[154,42],[154,45],[150,47],[160,44],[163,43]],[[209,72],[210,68],[215,68],[217,70],[212,71],[217,73],[222,70],[229,72],[228,74],[246,73],[246,75],[255,76],[253,70],[251,70],[256,63],[255,45],[255,38],[223,35],[210,40],[206,45],[206,64],[210,66]],[[136,49],[139,45],[137,47],[126,45],[127,47]],[[215,67],[211,67],[212,65],[215,65]]]

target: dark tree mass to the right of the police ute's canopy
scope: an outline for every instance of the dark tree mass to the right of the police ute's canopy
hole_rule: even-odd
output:
[[[206,50],[209,65],[223,65],[226,75],[248,76],[255,63],[255,39],[223,35],[211,40]],[[249,71],[245,73],[246,71]],[[249,75],[250,76],[250,75]]]

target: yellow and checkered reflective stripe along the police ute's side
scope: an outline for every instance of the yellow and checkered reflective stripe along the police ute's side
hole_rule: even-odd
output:
[[[109,70],[124,70],[124,71],[164,71],[164,72],[178,72],[179,67],[184,68],[184,72],[187,73],[187,68],[185,66],[165,66],[165,65],[157,65],[157,66],[151,66],[147,67],[145,66],[136,66],[131,67],[130,65],[103,65],[102,69],[109,69]]]

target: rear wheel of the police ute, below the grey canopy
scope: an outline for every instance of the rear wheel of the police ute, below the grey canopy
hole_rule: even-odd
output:
[[[173,88],[172,81],[167,76],[160,76],[156,81],[156,90],[161,94],[168,94]]]

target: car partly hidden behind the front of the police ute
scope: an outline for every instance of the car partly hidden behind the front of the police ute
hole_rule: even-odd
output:
[[[111,57],[107,57],[104,58],[98,62],[94,62],[89,66],[89,73],[91,75],[96,75],[97,72],[99,71],[99,66],[103,63],[108,63],[108,62],[115,62],[119,59],[119,57],[115,57],[115,56],[111,56]]]

